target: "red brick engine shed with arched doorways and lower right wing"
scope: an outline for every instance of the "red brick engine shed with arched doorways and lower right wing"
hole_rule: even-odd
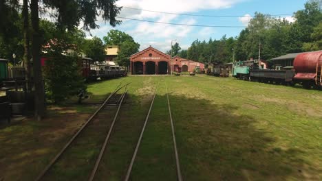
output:
[[[204,64],[194,62],[159,51],[153,47],[148,47],[130,57],[130,72],[135,74],[170,74],[171,71],[193,71],[199,68],[204,70]]]

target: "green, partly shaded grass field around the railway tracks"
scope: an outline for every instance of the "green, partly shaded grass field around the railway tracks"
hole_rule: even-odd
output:
[[[206,75],[133,76],[89,84],[85,102],[101,102],[120,82],[131,82],[129,97],[96,180],[124,179],[158,82],[132,180],[176,180],[164,82],[184,180],[322,180],[322,91]],[[95,108],[52,106],[43,122],[1,123],[0,180],[33,180]],[[98,153],[73,152],[92,160]],[[78,180],[88,169],[77,169]]]

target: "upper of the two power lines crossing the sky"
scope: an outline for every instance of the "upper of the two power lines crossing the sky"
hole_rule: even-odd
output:
[[[225,15],[205,15],[205,14],[182,14],[182,13],[175,13],[175,12],[160,12],[160,11],[153,11],[153,10],[142,10],[139,8],[131,8],[127,6],[122,6],[122,8],[127,8],[131,10],[140,10],[140,11],[146,11],[146,12],[158,12],[163,14],[175,14],[175,15],[182,15],[182,16],[202,16],[202,17],[219,17],[219,18],[243,18],[246,16],[225,16]],[[292,13],[288,14],[269,14],[270,16],[287,16],[292,15]]]

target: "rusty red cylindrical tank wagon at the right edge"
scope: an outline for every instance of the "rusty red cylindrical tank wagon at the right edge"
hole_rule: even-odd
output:
[[[322,61],[322,51],[301,53],[294,59],[296,73],[316,73],[316,63]]]

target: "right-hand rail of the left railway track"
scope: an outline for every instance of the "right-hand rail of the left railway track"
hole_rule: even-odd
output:
[[[111,127],[109,128],[109,132],[107,133],[107,136],[105,138],[104,144],[103,144],[102,148],[100,149],[100,154],[99,154],[99,156],[98,156],[98,158],[96,160],[96,163],[95,163],[94,169],[93,169],[93,171],[91,173],[91,176],[89,177],[89,181],[94,180],[94,177],[96,175],[96,171],[98,169],[98,166],[100,165],[100,160],[103,157],[103,154],[105,152],[105,148],[107,147],[107,142],[109,141],[109,137],[111,136],[111,132],[112,132],[112,130],[114,128],[114,124],[116,122],[116,119],[118,118],[118,112],[120,112],[120,107],[122,106],[122,102],[124,100],[124,97],[127,95],[127,91],[128,91],[127,86],[125,86],[125,92],[123,93],[123,95],[120,98],[120,101],[119,101],[119,104],[118,104],[118,110],[116,110],[116,114],[115,114],[114,119],[113,119],[113,121],[111,123]]]

